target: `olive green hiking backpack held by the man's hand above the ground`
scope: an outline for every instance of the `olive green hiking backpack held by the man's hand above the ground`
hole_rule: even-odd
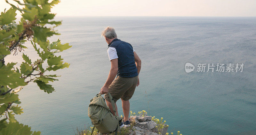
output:
[[[105,99],[100,93],[90,100],[88,116],[91,118],[92,124],[94,125],[92,133],[95,127],[98,129],[100,134],[113,132],[117,134],[117,131],[120,130],[119,124],[122,122],[122,118],[116,115],[115,102],[109,92],[108,96],[111,100],[115,116],[110,112]]]

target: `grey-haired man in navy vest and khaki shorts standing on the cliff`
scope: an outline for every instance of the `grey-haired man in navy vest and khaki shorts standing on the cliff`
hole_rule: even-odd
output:
[[[107,52],[108,58],[111,62],[111,69],[106,83],[100,89],[100,93],[105,94],[107,106],[110,108],[113,115],[115,115],[115,113],[111,106],[108,94],[106,93],[109,92],[111,94],[114,99],[115,106],[116,101],[121,98],[124,112],[124,124],[121,123],[120,127],[128,127],[130,126],[129,99],[132,98],[136,86],[139,86],[140,84],[138,75],[140,73],[141,60],[133,50],[131,44],[117,39],[114,28],[107,27],[102,31],[101,36],[104,36],[108,43]],[[116,114],[118,115],[117,106]]]

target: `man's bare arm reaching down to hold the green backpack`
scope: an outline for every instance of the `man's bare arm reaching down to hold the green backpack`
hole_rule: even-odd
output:
[[[109,71],[109,74],[108,74],[108,79],[107,79],[106,83],[100,89],[101,94],[108,93],[108,86],[113,82],[113,80],[116,77],[117,71],[118,71],[118,60],[113,59],[113,60],[110,60],[110,61],[111,61],[111,68],[110,68],[110,71]]]

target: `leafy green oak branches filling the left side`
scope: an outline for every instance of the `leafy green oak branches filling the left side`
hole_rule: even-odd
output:
[[[7,134],[41,134],[40,131],[32,132],[31,127],[23,125],[15,119],[14,115],[23,113],[19,106],[18,92],[29,82],[37,83],[44,92],[52,93],[54,88],[49,82],[57,81],[57,75],[49,75],[49,71],[68,68],[68,63],[63,63],[60,55],[55,55],[70,48],[68,44],[61,44],[58,39],[50,43],[47,39],[53,35],[59,35],[54,28],[61,24],[53,21],[55,14],[50,13],[51,8],[60,0],[24,0],[21,3],[13,0],[23,8],[13,4],[12,7],[0,15],[0,135]],[[21,18],[16,22],[17,11]],[[38,54],[38,59],[32,61],[23,53],[23,62],[20,67],[17,63],[7,63],[4,58],[7,55],[16,55],[27,48],[24,43],[29,41]],[[15,57],[15,56],[13,56]],[[20,87],[22,86],[22,87]]]

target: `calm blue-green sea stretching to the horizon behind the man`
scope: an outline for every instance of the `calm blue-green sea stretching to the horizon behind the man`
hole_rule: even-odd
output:
[[[110,26],[117,38],[132,44],[142,61],[140,85],[130,110],[145,110],[183,135],[256,134],[256,17],[57,17],[61,35],[49,40],[69,43],[60,52],[69,68],[47,94],[29,83],[19,94],[23,114],[15,115],[43,135],[74,135],[91,126],[90,99],[110,70],[108,44],[101,31]],[[37,60],[30,42],[24,53]],[[21,64],[22,52],[5,62]],[[186,72],[186,63],[193,71]],[[223,64],[223,72],[217,65]],[[213,67],[211,67],[213,66]],[[238,66],[238,68],[237,68]],[[210,69],[208,71],[208,68]],[[212,69],[213,68],[213,69]],[[204,70],[203,70],[204,69]],[[230,69],[230,70],[229,70]],[[233,69],[233,70],[232,70]],[[117,101],[123,115],[121,100]]]

